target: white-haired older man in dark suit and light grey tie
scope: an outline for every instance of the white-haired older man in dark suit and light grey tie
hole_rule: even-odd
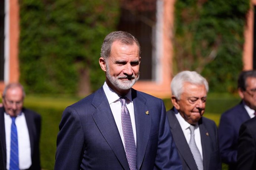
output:
[[[182,71],[171,82],[173,108],[167,112],[183,170],[220,170],[216,124],[203,117],[208,83],[195,71]]]

